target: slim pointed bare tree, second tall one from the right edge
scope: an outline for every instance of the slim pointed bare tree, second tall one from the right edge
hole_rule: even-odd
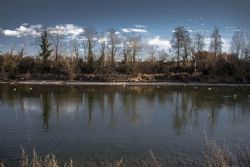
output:
[[[221,35],[220,35],[220,30],[218,27],[214,27],[214,30],[211,34],[210,39],[211,39],[211,42],[210,42],[209,50],[210,52],[214,53],[214,59],[216,59],[216,57],[222,53],[222,44],[223,44]]]

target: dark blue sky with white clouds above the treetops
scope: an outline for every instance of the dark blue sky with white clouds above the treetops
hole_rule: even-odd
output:
[[[249,32],[249,9],[249,0],[1,0],[0,51],[35,45],[41,27],[60,28],[77,38],[89,26],[99,32],[115,28],[138,33],[161,49],[171,46],[176,26],[184,26],[190,35],[204,32],[207,45],[218,26],[228,51],[234,31]]]

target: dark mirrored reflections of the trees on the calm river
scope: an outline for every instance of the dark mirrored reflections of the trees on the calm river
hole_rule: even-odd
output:
[[[106,122],[116,127],[117,121],[125,118],[132,125],[139,125],[150,119],[154,112],[167,112],[168,119],[176,134],[182,134],[187,127],[199,127],[201,115],[207,115],[211,129],[216,128],[220,113],[230,110],[232,123],[243,118],[242,112],[249,106],[249,88],[194,89],[193,87],[119,87],[119,86],[13,86],[0,87],[1,102],[17,107],[24,103],[32,104],[41,100],[43,127],[48,129],[50,117],[56,115],[57,121],[67,115],[79,120],[87,115],[87,124],[92,127],[97,122]],[[8,92],[8,93],[7,93]],[[223,96],[237,93],[237,99],[226,101]],[[24,102],[25,98],[25,102]],[[35,104],[34,104],[35,105]],[[27,108],[27,107],[26,107]],[[25,109],[23,109],[25,110]],[[67,114],[66,114],[67,113]],[[86,114],[86,115],[85,115]],[[71,116],[70,116],[71,115]],[[151,116],[150,116],[151,115]],[[202,120],[202,121],[206,121]]]

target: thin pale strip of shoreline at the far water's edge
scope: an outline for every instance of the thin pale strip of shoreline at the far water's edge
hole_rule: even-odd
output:
[[[125,82],[94,82],[94,81],[57,81],[57,80],[29,80],[29,81],[0,81],[0,84],[10,85],[79,85],[79,86],[246,86],[240,83],[202,83],[202,82],[163,82],[163,81],[125,81]]]

